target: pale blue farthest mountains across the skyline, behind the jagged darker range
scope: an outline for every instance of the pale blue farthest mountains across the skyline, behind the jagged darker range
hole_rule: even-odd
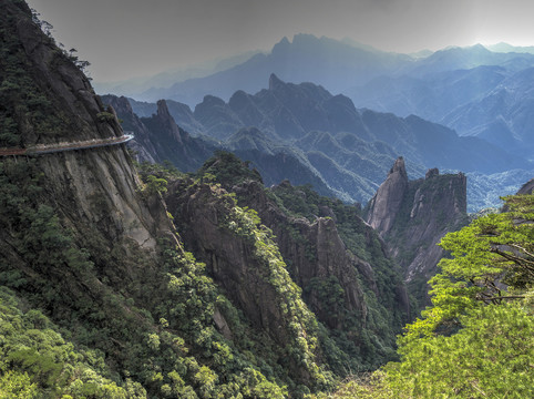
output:
[[[527,48],[502,43],[446,48],[421,57],[297,34],[292,41],[284,38],[270,53],[256,53],[202,78],[176,78],[166,88],[154,83],[160,88],[133,98],[152,102],[167,99],[193,109],[206,95],[225,102],[237,91],[254,95],[274,73],[286,82],[312,82],[331,93],[342,93],[357,108],[403,117],[418,115],[461,136],[480,136],[528,158],[533,153],[528,134],[533,120],[532,68],[534,54]],[[168,106],[173,112],[171,103]]]

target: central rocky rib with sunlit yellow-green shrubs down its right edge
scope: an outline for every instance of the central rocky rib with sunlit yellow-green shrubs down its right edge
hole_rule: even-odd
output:
[[[187,178],[170,186],[166,202],[186,248],[206,263],[215,283],[243,311],[264,345],[275,344],[270,356],[288,365],[301,383],[312,385],[315,362],[324,359],[320,346],[311,345],[318,339],[314,316],[255,213],[236,207],[223,188]],[[232,336],[225,325],[224,318],[217,323],[222,334]],[[302,338],[310,348],[301,354],[309,359],[306,365],[287,349]]]

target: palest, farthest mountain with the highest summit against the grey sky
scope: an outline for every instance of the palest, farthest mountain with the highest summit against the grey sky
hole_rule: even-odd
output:
[[[355,47],[347,42],[311,34],[296,34],[289,42],[284,38],[269,54],[257,54],[250,60],[213,75],[176,83],[168,89],[143,93],[145,100],[171,99],[189,106],[205,95],[225,100],[244,90],[254,93],[261,82],[276,73],[286,81],[317,82],[331,91],[341,92],[411,62],[410,57]]]

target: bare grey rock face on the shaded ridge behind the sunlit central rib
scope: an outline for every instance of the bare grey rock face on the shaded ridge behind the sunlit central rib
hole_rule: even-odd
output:
[[[318,217],[310,223],[306,218],[289,218],[266,196],[257,182],[234,188],[238,196],[247,198],[247,206],[257,211],[261,222],[273,229],[280,253],[290,265],[291,277],[302,288],[307,303],[319,320],[330,328],[343,329],[343,307],[352,315],[358,315],[359,324],[364,326],[367,305],[358,276],[362,274],[366,283],[377,290],[373,270],[368,263],[347,250],[335,221]],[[343,290],[343,304],[339,308],[324,304],[325,298],[314,285],[315,282],[329,278],[338,282]]]

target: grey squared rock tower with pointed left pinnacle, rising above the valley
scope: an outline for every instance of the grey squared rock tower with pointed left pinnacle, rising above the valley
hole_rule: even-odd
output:
[[[462,173],[440,175],[433,168],[424,178],[409,182],[399,158],[369,202],[367,221],[402,266],[405,282],[424,284],[444,255],[437,244],[468,222],[466,178]],[[413,289],[423,300],[423,289]]]

